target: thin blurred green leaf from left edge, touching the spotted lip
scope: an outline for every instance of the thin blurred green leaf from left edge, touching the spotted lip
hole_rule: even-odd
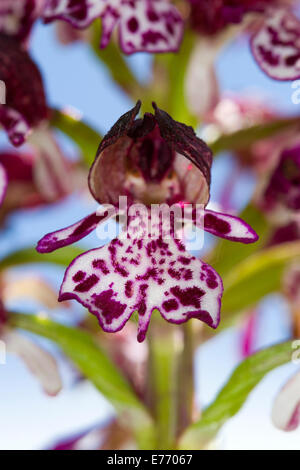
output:
[[[53,253],[40,254],[35,248],[25,248],[3,258],[0,262],[0,270],[29,263],[52,263],[67,267],[83,251],[83,249],[69,246]]]

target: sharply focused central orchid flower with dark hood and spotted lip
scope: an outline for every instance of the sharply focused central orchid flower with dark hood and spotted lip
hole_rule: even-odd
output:
[[[130,205],[145,204],[146,218],[152,203],[206,206],[210,149],[191,127],[174,121],[155,104],[154,115],[146,113],[143,119],[136,119],[140,106],[138,102],[122,116],[100,144],[89,174],[91,194],[100,204],[114,207],[120,195],[127,196]],[[197,224],[196,211],[193,209],[192,217]],[[51,252],[82,239],[107,219],[107,212],[103,206],[72,226],[46,235],[37,250]],[[160,221],[156,221],[156,236],[144,238],[139,215],[129,208],[125,236],[121,234],[71,263],[59,300],[78,300],[107,332],[121,330],[138,311],[139,342],[145,339],[154,310],[170,323],[197,318],[216,328],[223,292],[220,276],[186,251],[175,230],[165,238]],[[248,224],[231,215],[204,209],[201,219],[206,231],[222,238],[243,243],[258,238]]]

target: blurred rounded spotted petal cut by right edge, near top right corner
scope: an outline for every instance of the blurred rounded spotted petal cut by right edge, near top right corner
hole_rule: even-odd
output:
[[[300,21],[285,9],[274,9],[251,41],[261,69],[275,80],[300,77]]]

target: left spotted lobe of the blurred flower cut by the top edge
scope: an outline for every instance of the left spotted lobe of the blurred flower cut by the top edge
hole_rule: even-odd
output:
[[[65,20],[75,28],[87,28],[107,8],[106,3],[106,0],[46,0],[43,18],[45,23]]]

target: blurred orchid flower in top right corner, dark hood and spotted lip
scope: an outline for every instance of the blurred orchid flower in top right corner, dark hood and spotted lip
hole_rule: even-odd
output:
[[[289,0],[188,0],[190,22],[201,35],[212,36],[256,13],[251,50],[260,68],[275,80],[300,77],[300,21]]]

